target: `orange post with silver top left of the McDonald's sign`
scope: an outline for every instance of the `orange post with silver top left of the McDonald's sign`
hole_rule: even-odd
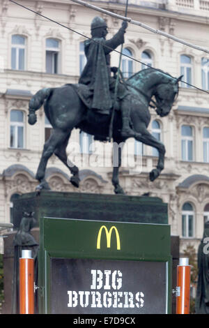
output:
[[[34,260],[32,251],[22,251],[20,258],[20,314],[34,313]]]

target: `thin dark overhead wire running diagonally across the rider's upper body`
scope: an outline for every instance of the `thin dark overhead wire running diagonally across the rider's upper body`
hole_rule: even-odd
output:
[[[40,17],[45,18],[46,20],[49,20],[50,22],[54,22],[55,24],[58,24],[59,26],[64,27],[65,29],[68,29],[68,30],[70,30],[70,31],[72,31],[72,32],[74,32],[74,33],[77,33],[77,34],[79,34],[79,36],[82,36],[83,38],[86,38],[86,39],[88,39],[88,40],[92,40],[92,41],[95,42],[95,43],[99,43],[99,41],[94,40],[93,38],[90,38],[90,37],[86,36],[84,33],[81,33],[81,32],[79,32],[79,31],[75,31],[75,29],[72,29],[72,28],[70,28],[70,27],[66,27],[64,24],[61,24],[61,23],[59,23],[59,22],[56,22],[56,20],[52,20],[52,18],[49,18],[49,17],[47,17],[47,16],[45,16],[45,15],[42,15],[41,13],[36,12],[36,10],[33,10],[33,9],[31,9],[31,8],[28,8],[28,7],[26,7],[26,6],[24,6],[24,5],[20,4],[20,3],[17,3],[17,2],[14,1],[14,0],[9,0],[9,1],[15,3],[16,5],[22,7],[22,8],[24,8],[24,9],[26,9],[26,10],[31,11],[32,13],[35,13],[36,15],[39,15]],[[118,51],[118,50],[116,50],[116,49],[113,49],[113,48],[109,47],[108,45],[103,45],[103,46],[104,46],[104,47],[107,47],[107,48],[108,48],[109,50],[111,50],[111,51],[114,51],[114,52],[116,52],[116,53],[118,53],[118,54],[121,54],[120,51]],[[122,53],[122,55],[123,55],[123,57],[127,57],[127,58],[129,58],[129,59],[132,59],[133,61],[137,61],[137,63],[140,63],[140,64],[143,64],[143,65],[145,65],[145,66],[148,66],[148,68],[152,68],[153,70],[159,71],[157,68],[154,68],[154,67],[152,67],[152,66],[150,66],[150,65],[148,65],[148,64],[146,64],[146,63],[144,63],[144,62],[142,62],[142,61],[139,61],[139,59],[135,59],[134,57],[131,57],[131,56],[129,56],[128,54],[123,54],[123,53]],[[165,72],[163,72],[163,73],[164,73],[164,75],[167,75],[167,76],[171,77],[171,75],[169,75],[169,73],[165,73]],[[176,78],[176,80],[178,80],[178,78]],[[193,84],[189,84],[188,82],[181,81],[181,83],[187,84],[187,85],[189,85],[189,87],[193,87],[194,89],[197,89],[197,90],[199,90],[199,91],[203,91],[203,92],[205,92],[206,94],[209,94],[209,91],[204,90],[204,89],[201,89],[201,88],[199,88],[199,87],[196,87],[196,86],[194,86]]]

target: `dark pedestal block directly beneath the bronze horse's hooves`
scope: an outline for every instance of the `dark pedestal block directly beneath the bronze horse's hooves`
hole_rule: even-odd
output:
[[[14,201],[14,228],[18,228],[23,211],[40,217],[77,218],[94,221],[120,221],[168,224],[167,204],[157,197],[100,195],[41,191],[26,193]]]

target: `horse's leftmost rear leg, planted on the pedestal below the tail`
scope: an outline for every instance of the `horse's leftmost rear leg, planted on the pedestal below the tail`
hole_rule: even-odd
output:
[[[40,163],[38,165],[38,170],[36,173],[36,179],[40,181],[40,185],[38,186],[38,189],[42,189],[42,188],[49,189],[47,181],[45,181],[45,170],[47,167],[47,162],[49,158],[52,156],[52,154],[54,153],[56,147],[59,147],[59,145],[62,144],[65,138],[66,138],[66,132],[56,129],[52,132],[52,135],[49,137],[49,140],[45,142],[42,151],[42,156],[40,158]]]

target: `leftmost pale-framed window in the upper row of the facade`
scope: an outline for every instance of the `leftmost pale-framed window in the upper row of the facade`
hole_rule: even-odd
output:
[[[25,70],[26,38],[17,34],[12,36],[11,47],[12,70]]]

